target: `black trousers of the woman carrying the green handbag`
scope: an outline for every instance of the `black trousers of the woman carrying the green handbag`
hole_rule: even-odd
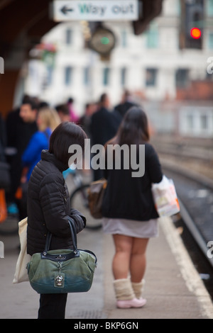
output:
[[[38,319],[65,319],[66,294],[41,294]]]

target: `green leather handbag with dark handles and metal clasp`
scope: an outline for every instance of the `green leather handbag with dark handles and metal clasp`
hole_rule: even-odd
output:
[[[92,286],[97,257],[89,250],[77,249],[75,225],[68,222],[73,249],[49,250],[48,233],[44,251],[33,254],[26,266],[31,286],[39,294],[82,293]]]

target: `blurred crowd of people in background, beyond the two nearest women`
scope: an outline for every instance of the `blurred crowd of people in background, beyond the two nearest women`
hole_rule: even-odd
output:
[[[6,193],[9,213],[19,218],[26,216],[26,189],[40,153],[48,149],[50,135],[64,121],[80,125],[92,140],[92,144],[104,145],[119,128],[124,113],[133,102],[125,91],[121,103],[111,112],[108,94],[102,94],[99,101],[87,103],[84,114],[78,115],[74,108],[74,99],[52,108],[38,98],[23,96],[21,106],[9,112],[6,120],[1,117],[0,161],[7,160],[11,169],[11,188]],[[6,149],[6,154],[4,154]],[[102,170],[94,170],[94,180],[101,178]]]

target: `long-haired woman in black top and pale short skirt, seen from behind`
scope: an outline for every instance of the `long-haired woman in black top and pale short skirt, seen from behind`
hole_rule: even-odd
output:
[[[146,304],[142,298],[146,249],[148,240],[158,236],[159,216],[151,184],[159,183],[163,173],[148,140],[146,113],[133,106],[124,116],[116,137],[105,145],[107,188],[102,205],[103,230],[114,239],[114,290],[116,306],[121,308]]]

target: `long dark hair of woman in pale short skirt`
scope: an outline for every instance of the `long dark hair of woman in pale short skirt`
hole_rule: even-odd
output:
[[[133,106],[124,115],[116,135],[119,145],[140,145],[149,140],[148,119],[142,108]]]

